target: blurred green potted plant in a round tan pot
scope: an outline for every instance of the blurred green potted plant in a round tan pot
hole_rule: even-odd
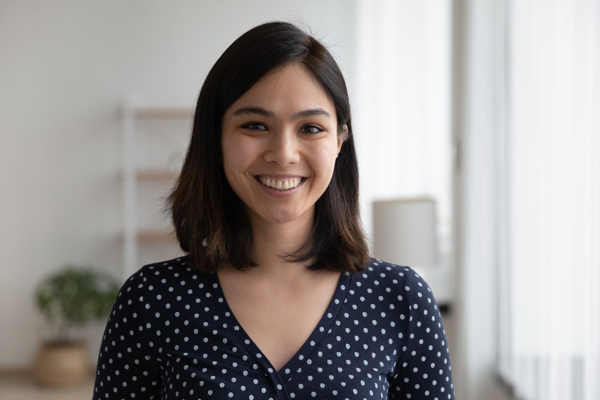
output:
[[[107,318],[119,284],[94,269],[65,265],[35,288],[35,303],[50,324],[58,327],[51,339],[40,345],[34,375],[41,384],[80,383],[89,376],[86,341],[70,331],[91,320]]]

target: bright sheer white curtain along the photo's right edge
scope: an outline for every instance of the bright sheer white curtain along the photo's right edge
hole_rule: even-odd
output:
[[[506,3],[499,371],[515,397],[600,399],[600,1]]]

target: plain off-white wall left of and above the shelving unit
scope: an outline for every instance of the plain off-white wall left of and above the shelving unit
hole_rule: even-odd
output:
[[[0,367],[28,367],[47,334],[32,297],[46,273],[68,261],[121,276],[122,98],[191,107],[235,38],[296,17],[340,58],[352,97],[353,9],[347,0],[2,2]],[[92,360],[104,323],[85,331]]]

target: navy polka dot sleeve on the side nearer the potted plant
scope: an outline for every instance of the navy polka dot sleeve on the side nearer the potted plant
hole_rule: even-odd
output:
[[[144,267],[121,286],[98,354],[93,400],[160,399],[162,378],[152,365],[143,320]]]

